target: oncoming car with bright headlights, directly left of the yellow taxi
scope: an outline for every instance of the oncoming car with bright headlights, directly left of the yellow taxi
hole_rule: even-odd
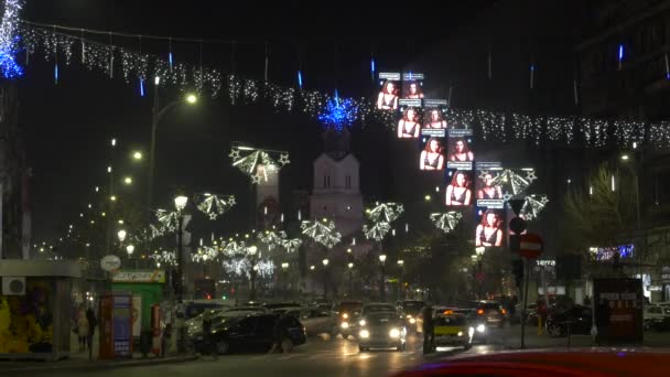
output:
[[[397,351],[403,351],[407,342],[404,319],[395,311],[368,310],[365,315],[360,316],[357,338],[360,352],[372,347],[393,347]]]

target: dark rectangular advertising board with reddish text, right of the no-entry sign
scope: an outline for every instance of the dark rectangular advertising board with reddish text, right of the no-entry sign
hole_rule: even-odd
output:
[[[642,342],[640,279],[594,279],[593,294],[598,343]]]

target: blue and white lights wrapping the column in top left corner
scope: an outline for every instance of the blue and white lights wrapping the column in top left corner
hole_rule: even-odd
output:
[[[4,78],[15,78],[23,75],[23,67],[15,60],[20,42],[17,34],[19,11],[22,6],[23,0],[4,1],[4,14],[0,25],[0,72]]]

